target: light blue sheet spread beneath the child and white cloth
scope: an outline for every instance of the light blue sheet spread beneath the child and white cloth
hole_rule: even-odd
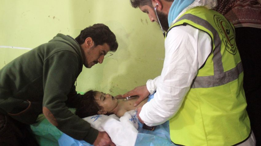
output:
[[[150,95],[152,99],[154,95]],[[154,131],[142,129],[142,123],[138,122],[138,136],[135,146],[175,146],[169,138],[169,121],[155,127]],[[92,146],[85,141],[79,141],[62,134],[58,140],[60,146]]]

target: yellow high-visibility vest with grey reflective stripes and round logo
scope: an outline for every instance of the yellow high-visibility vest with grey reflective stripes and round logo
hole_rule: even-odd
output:
[[[206,32],[212,40],[212,52],[198,70],[181,108],[169,120],[171,140],[186,146],[234,145],[244,141],[250,136],[251,127],[233,25],[205,7],[189,9],[169,30],[179,25]]]

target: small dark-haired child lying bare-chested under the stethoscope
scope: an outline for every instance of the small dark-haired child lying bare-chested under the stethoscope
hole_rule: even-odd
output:
[[[148,100],[147,98],[138,104],[137,107],[134,107],[133,104],[137,99],[138,96],[132,97],[129,100],[117,99],[110,94],[90,90],[82,96],[79,106],[76,107],[75,114],[80,118],[97,114],[115,114],[120,118],[125,112],[142,107]]]

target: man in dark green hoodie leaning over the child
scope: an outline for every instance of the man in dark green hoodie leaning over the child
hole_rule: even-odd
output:
[[[0,145],[37,145],[27,128],[41,113],[77,140],[114,145],[106,132],[93,129],[68,108],[75,108],[80,101],[74,83],[83,65],[101,64],[104,55],[117,48],[109,27],[94,24],[75,39],[57,34],[6,64],[0,70]]]

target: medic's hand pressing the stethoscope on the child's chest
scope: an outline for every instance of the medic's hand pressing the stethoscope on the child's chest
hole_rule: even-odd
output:
[[[146,85],[143,86],[138,86],[136,88],[134,88],[133,90],[125,93],[122,95],[122,97],[128,97],[128,96],[134,96],[134,95],[138,95],[139,98],[138,100],[133,104],[134,107],[136,107],[138,104],[140,104],[140,102],[142,102],[142,100],[144,100],[146,97],[148,97],[150,95],[150,92],[147,89]]]

